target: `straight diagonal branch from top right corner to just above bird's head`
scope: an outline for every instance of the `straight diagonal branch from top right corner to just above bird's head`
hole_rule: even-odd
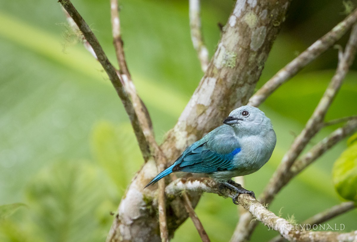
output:
[[[342,22],[336,25],[330,32],[322,36],[283,69],[278,71],[267,81],[248,101],[248,105],[259,106],[278,87],[297,74],[303,67],[315,60],[318,56],[330,49],[351,26],[357,21],[357,9],[348,15]]]

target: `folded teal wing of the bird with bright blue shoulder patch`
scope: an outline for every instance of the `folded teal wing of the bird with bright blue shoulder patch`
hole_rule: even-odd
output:
[[[193,173],[210,173],[215,171],[226,171],[235,168],[233,157],[240,152],[237,143],[225,143],[225,151],[209,142],[192,144],[177,159],[172,171],[185,171]]]

